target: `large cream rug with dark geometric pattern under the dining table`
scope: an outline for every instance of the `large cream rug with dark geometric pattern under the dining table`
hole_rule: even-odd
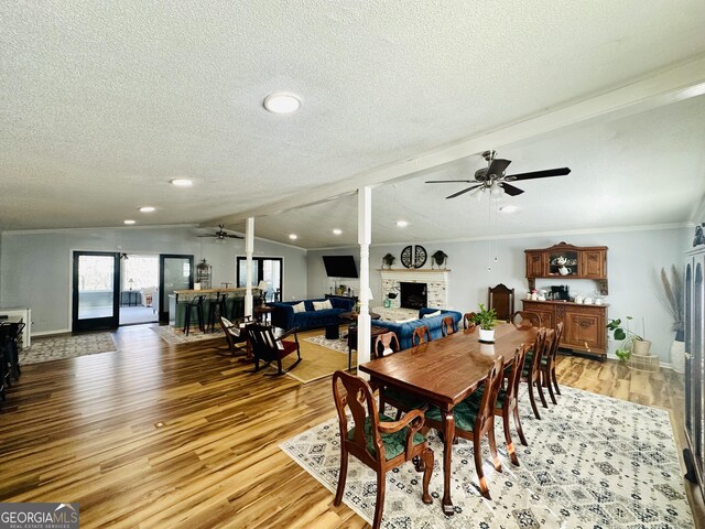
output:
[[[460,440],[453,446],[453,517],[441,509],[443,445],[432,431],[434,503],[421,501],[422,474],[411,463],[390,471],[382,527],[692,528],[668,412],[567,387],[561,391],[558,406],[542,409],[542,420],[530,414],[523,399],[522,424],[530,445],[518,445],[521,466],[511,465],[507,456],[501,424],[496,431],[502,473],[495,472],[487,442],[482,443],[492,500],[479,494],[471,443]],[[513,431],[512,436],[518,439]],[[280,446],[335,492],[340,455],[337,419]],[[375,472],[350,456],[344,501],[371,523],[375,495]]]

